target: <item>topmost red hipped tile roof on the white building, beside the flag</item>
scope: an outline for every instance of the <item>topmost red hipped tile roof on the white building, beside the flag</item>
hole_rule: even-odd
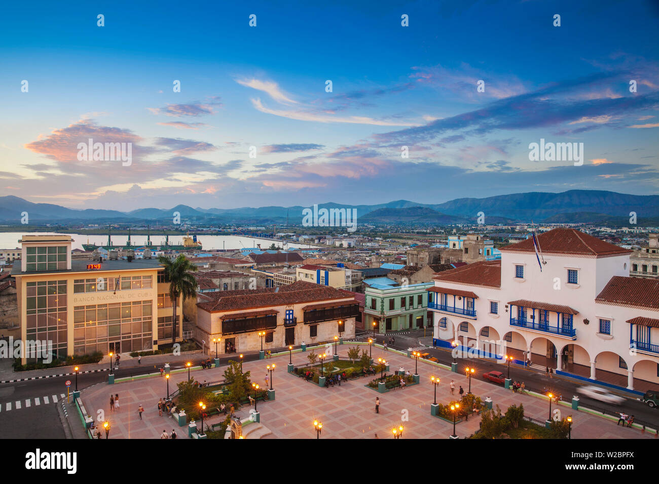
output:
[[[537,236],[540,250],[546,254],[614,255],[630,254],[631,250],[609,244],[577,229],[554,229]],[[501,247],[501,252],[535,252],[533,238]]]

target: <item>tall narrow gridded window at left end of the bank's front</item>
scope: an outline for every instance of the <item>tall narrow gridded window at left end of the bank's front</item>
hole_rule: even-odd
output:
[[[67,281],[28,282],[26,292],[26,339],[51,342],[53,358],[67,358]]]

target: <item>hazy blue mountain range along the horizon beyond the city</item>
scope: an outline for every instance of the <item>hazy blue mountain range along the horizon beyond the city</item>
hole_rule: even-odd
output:
[[[142,208],[129,212],[105,209],[69,209],[51,203],[32,203],[16,196],[0,197],[0,221],[18,225],[23,212],[30,223],[171,223],[174,212],[181,221],[202,224],[241,223],[291,225],[302,222],[301,205],[293,207],[241,207],[232,209],[189,207]],[[631,195],[600,190],[569,190],[561,193],[527,192],[487,198],[457,198],[428,204],[409,200],[376,205],[319,203],[318,208],[356,209],[358,221],[378,224],[451,225],[476,223],[482,212],[484,223],[546,222],[607,223],[629,225],[631,212],[639,225],[659,225],[659,196]]]

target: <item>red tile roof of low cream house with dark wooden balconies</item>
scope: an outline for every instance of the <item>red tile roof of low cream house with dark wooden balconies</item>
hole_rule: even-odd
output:
[[[302,302],[320,302],[345,299],[350,296],[331,286],[321,286],[312,282],[297,281],[277,288],[253,290],[219,291],[211,293],[214,300],[200,302],[197,307],[209,312],[235,311],[237,309],[271,308]],[[354,300],[354,298],[353,298]],[[348,300],[346,304],[350,301]]]

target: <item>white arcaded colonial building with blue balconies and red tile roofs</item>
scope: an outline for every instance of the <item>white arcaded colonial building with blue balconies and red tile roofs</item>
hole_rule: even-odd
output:
[[[500,261],[434,277],[428,309],[436,344],[458,340],[485,355],[505,345],[520,362],[543,369],[630,390],[656,388],[659,281],[629,277],[630,250],[579,230],[537,238],[541,263],[528,238],[501,248]]]

